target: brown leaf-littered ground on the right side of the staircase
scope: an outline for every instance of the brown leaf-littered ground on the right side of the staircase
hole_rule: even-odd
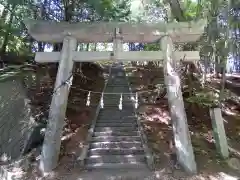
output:
[[[128,77],[133,91],[141,92],[149,89],[148,87],[154,87],[159,82],[159,79],[163,78],[163,72],[160,68],[153,69],[151,67],[149,70],[149,68],[139,67],[134,69],[129,70],[131,75]],[[132,73],[133,71],[135,73]],[[240,82],[238,78],[234,80]],[[219,84],[219,79],[211,79],[211,86],[219,88]],[[240,86],[231,87],[230,89],[240,94]],[[172,161],[170,156],[172,150],[169,145],[169,142],[172,140],[172,127],[168,101],[166,98],[158,98],[157,93],[151,91],[142,93],[139,95],[139,98],[139,101],[144,103],[140,103],[138,113],[142,116],[141,119],[149,144],[156,155],[156,159],[158,159],[159,163],[157,166],[160,169],[168,167],[168,163]],[[224,161],[217,154],[208,108],[190,106],[185,100],[185,110],[199,174],[209,178],[209,176],[221,172],[240,178],[240,164],[235,164],[235,168],[238,168],[237,171],[228,165],[231,161]],[[240,104],[232,100],[225,101],[223,118],[225,120],[224,125],[228,143],[231,148],[230,157],[234,160],[235,158],[240,160]],[[177,179],[180,177],[186,178],[186,174],[178,169],[173,169],[172,175]]]

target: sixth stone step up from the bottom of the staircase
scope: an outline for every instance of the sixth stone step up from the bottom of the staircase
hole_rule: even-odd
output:
[[[139,136],[138,131],[101,131],[94,132],[93,136]]]

